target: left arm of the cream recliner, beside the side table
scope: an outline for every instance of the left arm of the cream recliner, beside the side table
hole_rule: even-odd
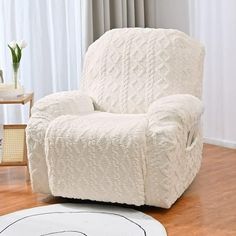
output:
[[[89,97],[78,91],[48,95],[34,105],[27,126],[28,160],[33,190],[49,193],[44,137],[51,121],[63,114],[92,112]]]

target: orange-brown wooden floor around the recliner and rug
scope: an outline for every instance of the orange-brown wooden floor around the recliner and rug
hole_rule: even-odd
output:
[[[66,201],[32,193],[25,179],[25,167],[0,167],[0,215]],[[205,145],[200,173],[171,209],[137,209],[159,220],[169,236],[236,236],[236,150]]]

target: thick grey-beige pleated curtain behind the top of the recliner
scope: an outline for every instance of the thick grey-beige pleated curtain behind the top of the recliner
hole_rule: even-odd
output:
[[[156,0],[85,1],[85,43],[88,47],[104,32],[122,27],[156,25]]]

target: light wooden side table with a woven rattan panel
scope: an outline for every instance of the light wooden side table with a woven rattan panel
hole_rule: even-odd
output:
[[[34,94],[28,93],[17,98],[0,98],[0,104],[29,103],[29,117],[33,106]],[[0,166],[27,166],[27,149],[25,138],[26,124],[3,125],[2,159]],[[16,153],[16,154],[15,154]]]

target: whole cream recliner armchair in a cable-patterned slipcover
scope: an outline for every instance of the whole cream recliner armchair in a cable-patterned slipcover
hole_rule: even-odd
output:
[[[79,91],[36,102],[33,190],[169,208],[202,157],[203,47],[166,29],[115,29],[88,49]]]

